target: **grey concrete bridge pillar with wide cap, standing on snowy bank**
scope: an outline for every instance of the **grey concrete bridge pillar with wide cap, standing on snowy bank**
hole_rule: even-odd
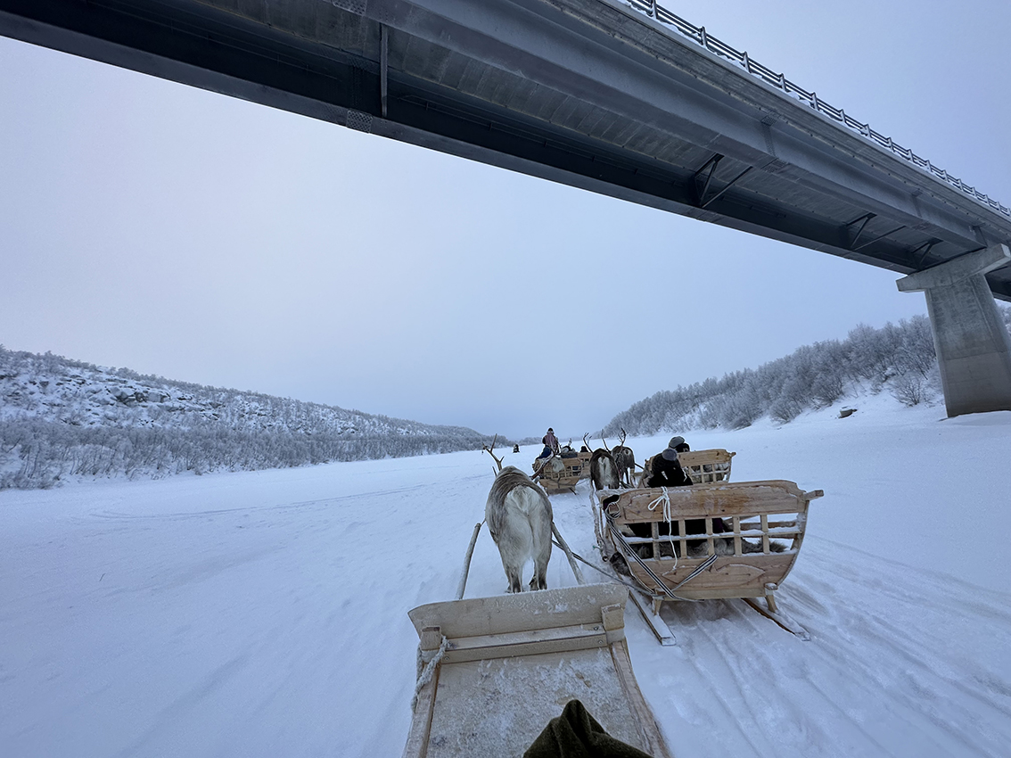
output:
[[[1011,410],[1011,337],[985,277],[1008,263],[994,245],[896,282],[927,297],[948,416]]]

